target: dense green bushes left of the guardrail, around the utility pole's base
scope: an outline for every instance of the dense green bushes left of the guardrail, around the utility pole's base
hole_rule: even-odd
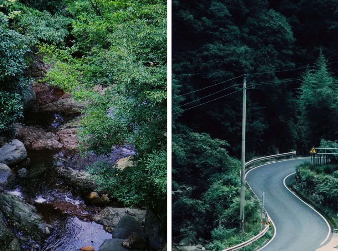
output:
[[[238,236],[240,162],[228,143],[185,127],[173,135],[173,235],[213,238],[213,250],[230,247],[258,233],[260,204],[246,194],[246,234]],[[185,182],[177,183],[177,180]]]

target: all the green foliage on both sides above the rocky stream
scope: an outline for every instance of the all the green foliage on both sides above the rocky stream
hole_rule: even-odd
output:
[[[0,0],[0,135],[15,136],[32,81],[25,68],[38,52],[53,65],[43,81],[88,104],[78,131],[83,154],[137,149],[133,168],[90,167],[99,187],[165,217],[166,34],[165,1]]]

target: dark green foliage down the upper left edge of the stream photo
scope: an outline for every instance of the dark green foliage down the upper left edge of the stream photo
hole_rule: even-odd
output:
[[[29,8],[19,1],[0,1],[0,135],[14,137],[13,123],[23,114],[29,53],[38,41],[62,43],[68,35],[66,17]]]

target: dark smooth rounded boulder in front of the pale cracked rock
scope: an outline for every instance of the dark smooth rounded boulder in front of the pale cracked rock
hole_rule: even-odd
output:
[[[135,220],[130,215],[125,215],[121,218],[119,223],[113,229],[112,237],[118,239],[129,239],[130,236],[135,235],[137,238],[137,247],[141,245],[140,243],[147,243],[147,234],[142,227],[141,223]],[[131,244],[132,247],[133,243]]]

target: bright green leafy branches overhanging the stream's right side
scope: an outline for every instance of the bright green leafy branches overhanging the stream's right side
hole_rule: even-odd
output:
[[[44,60],[53,63],[45,81],[89,102],[78,132],[82,152],[109,154],[114,145],[136,147],[136,166],[131,169],[117,172],[104,163],[90,168],[100,188],[126,205],[145,203],[162,214],[167,170],[166,3],[66,3],[73,18],[73,44],[40,44]]]

